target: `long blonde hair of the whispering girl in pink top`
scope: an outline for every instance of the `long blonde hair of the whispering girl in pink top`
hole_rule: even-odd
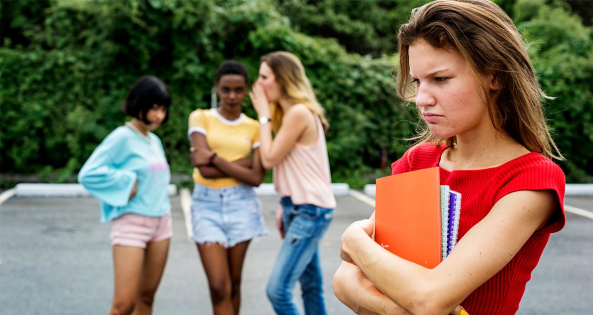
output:
[[[276,82],[280,85],[282,97],[292,104],[304,104],[311,112],[317,114],[327,132],[329,123],[325,117],[325,110],[317,101],[311,82],[305,75],[305,68],[297,56],[289,52],[272,52],[262,56],[260,62],[265,62],[272,72]],[[272,104],[272,129],[278,132],[282,125],[284,112],[279,104]]]

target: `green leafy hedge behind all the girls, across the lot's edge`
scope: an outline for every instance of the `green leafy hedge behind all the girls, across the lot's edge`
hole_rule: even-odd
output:
[[[558,36],[544,24],[550,15],[563,14],[559,26],[578,26],[557,29],[570,44],[548,42],[532,53],[541,82],[557,96],[549,117],[569,158],[561,166],[570,181],[591,181],[591,30],[563,8],[543,8],[519,24],[531,36]],[[5,174],[58,173],[53,180],[67,180],[126,120],[119,106],[148,74],[170,87],[170,121],[156,133],[172,171],[189,174],[187,116],[209,107],[218,65],[238,59],[255,78],[260,56],[273,50],[301,58],[327,110],[334,181],[360,187],[387,174],[413,132],[416,117],[394,93],[395,56],[361,56],[337,40],[298,33],[271,0],[8,1],[0,9]],[[245,110],[254,116],[252,107]]]

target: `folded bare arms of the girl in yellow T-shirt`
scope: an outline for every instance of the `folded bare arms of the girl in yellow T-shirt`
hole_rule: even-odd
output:
[[[263,182],[264,168],[259,157],[259,149],[254,149],[253,158],[243,158],[229,162],[224,158],[216,156],[213,166],[208,166],[212,151],[206,143],[206,137],[199,132],[192,133],[192,165],[197,167],[205,178],[232,177],[238,181],[259,186]]]

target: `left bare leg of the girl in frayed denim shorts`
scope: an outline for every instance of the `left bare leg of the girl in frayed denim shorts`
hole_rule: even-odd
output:
[[[202,265],[208,278],[210,298],[215,315],[234,314],[231,303],[231,275],[228,266],[228,250],[221,244],[197,244]]]

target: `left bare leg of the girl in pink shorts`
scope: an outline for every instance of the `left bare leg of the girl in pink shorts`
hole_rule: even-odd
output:
[[[113,270],[115,291],[111,315],[132,314],[138,283],[142,272],[144,249],[131,246],[113,246]]]

